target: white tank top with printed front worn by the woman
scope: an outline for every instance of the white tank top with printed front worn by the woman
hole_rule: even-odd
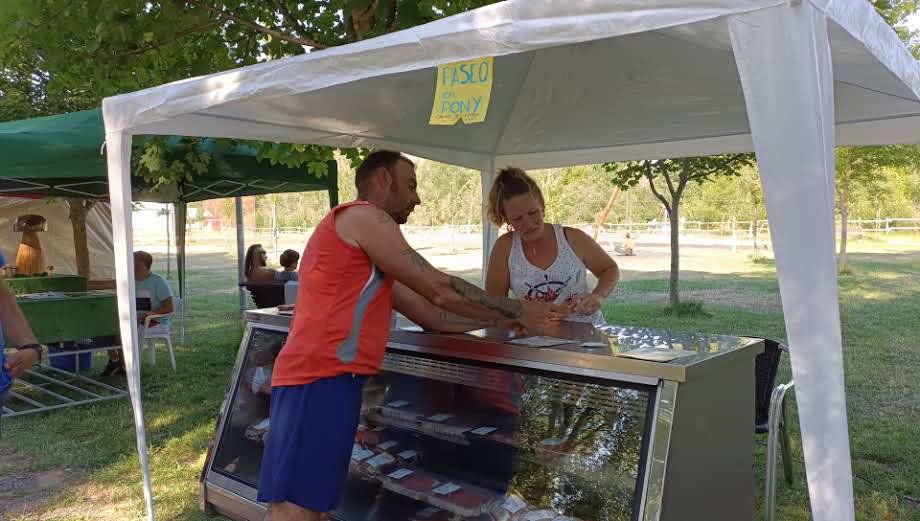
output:
[[[567,284],[575,284],[569,300],[576,295],[588,293],[585,264],[569,246],[562,225],[554,224],[553,232],[556,235],[556,260],[545,270],[534,266],[527,260],[524,248],[521,246],[520,234],[512,232],[508,272],[511,275],[511,291],[515,297],[538,302],[555,302]],[[593,315],[573,313],[569,315],[568,320],[588,322],[595,326],[606,324],[604,315],[600,311]]]

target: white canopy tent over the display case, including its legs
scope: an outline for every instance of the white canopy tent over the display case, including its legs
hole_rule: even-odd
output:
[[[429,126],[436,66],[493,56],[481,124]],[[816,521],[854,518],[834,247],[840,145],[916,141],[920,67],[865,0],[510,0],[103,103],[119,313],[153,519],[130,145],[180,134],[394,148],[482,172],[755,151]],[[484,262],[496,236],[484,233]]]

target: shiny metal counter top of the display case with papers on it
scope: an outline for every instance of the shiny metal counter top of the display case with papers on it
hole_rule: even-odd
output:
[[[291,316],[279,313],[277,308],[268,308],[247,311],[246,320],[288,328]],[[561,322],[543,333],[545,336],[572,339],[571,343],[543,348],[509,344],[507,342],[515,337],[505,330],[443,334],[402,329],[406,326],[411,326],[411,322],[401,321],[399,328],[390,333],[389,352],[446,356],[650,385],[657,384],[659,380],[690,381],[702,377],[709,368],[721,365],[721,362],[728,363],[736,356],[752,356],[748,352],[750,349],[756,350],[756,353],[763,350],[763,340],[759,338],[617,325],[595,328],[590,324],[573,322]],[[604,347],[581,347],[584,342]],[[641,348],[693,354],[669,362],[619,356],[619,353]]]

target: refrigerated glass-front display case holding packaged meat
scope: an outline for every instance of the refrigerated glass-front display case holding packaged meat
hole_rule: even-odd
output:
[[[289,321],[247,314],[202,473],[209,513],[264,517],[271,370]],[[761,340],[585,324],[550,333],[523,343],[555,345],[531,347],[504,331],[395,329],[365,386],[346,493],[330,517],[753,517]]]

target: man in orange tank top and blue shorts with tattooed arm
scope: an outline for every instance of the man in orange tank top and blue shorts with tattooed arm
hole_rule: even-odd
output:
[[[267,521],[320,520],[342,497],[364,382],[379,371],[395,307],[444,332],[539,331],[550,305],[493,297],[434,269],[399,229],[421,204],[415,165],[372,153],[358,198],[332,209],[304,250],[288,340],[272,375],[259,501]]]

